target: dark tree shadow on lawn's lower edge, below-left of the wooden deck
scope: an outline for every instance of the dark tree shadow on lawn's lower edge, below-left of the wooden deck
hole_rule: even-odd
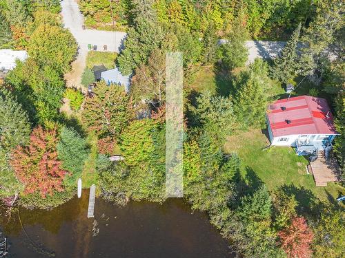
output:
[[[299,215],[319,215],[321,202],[314,193],[304,186],[295,186],[294,184],[284,184],[278,188],[278,191],[286,195],[295,195],[298,202],[297,214]]]

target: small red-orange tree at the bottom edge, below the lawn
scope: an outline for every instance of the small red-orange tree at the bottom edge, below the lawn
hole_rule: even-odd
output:
[[[306,224],[304,217],[295,217],[288,228],[279,231],[278,236],[289,258],[311,257],[310,248],[313,241],[313,233]]]

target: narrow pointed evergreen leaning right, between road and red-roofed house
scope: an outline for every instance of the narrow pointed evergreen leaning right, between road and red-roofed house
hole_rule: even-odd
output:
[[[297,43],[299,41],[299,33],[301,32],[301,23],[295,29],[286,43],[282,52],[274,60],[273,78],[280,80],[282,83],[288,83],[288,80],[295,76],[297,69]]]

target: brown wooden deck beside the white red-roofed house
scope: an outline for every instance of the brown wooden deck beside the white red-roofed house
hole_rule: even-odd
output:
[[[324,157],[317,158],[317,160],[311,162],[311,169],[316,186],[327,186],[327,182],[339,181],[339,164],[333,157],[327,160]]]

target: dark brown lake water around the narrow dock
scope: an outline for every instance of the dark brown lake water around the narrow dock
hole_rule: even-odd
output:
[[[206,213],[193,213],[183,200],[169,199],[162,205],[130,202],[119,208],[98,198],[95,218],[88,219],[87,210],[87,191],[52,211],[21,208],[25,231],[17,213],[6,222],[0,211],[11,257],[234,257]]]

